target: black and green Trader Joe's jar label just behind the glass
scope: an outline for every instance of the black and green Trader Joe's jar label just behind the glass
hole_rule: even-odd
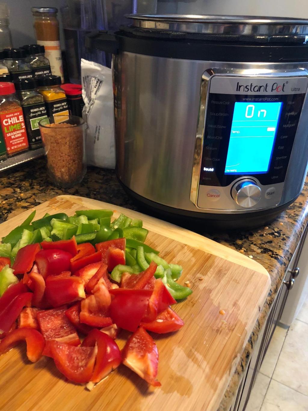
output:
[[[36,103],[23,106],[23,115],[30,146],[41,141],[39,121],[47,117],[45,103]]]

